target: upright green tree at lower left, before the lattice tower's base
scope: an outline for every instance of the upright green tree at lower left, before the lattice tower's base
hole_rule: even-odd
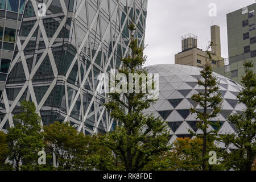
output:
[[[36,114],[35,104],[21,101],[20,109],[21,113],[13,117],[15,127],[10,127],[7,134],[10,143],[9,159],[15,162],[16,171],[20,169],[20,162],[23,166],[35,164],[38,152],[44,147],[41,118]]]

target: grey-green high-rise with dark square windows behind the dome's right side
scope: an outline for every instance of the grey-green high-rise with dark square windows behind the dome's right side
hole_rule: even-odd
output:
[[[256,3],[226,15],[228,27],[229,62],[225,67],[214,69],[223,76],[241,84],[245,73],[243,63],[252,60],[256,72]]]

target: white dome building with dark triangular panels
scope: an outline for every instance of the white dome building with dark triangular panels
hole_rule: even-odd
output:
[[[200,92],[204,88],[197,84],[201,68],[178,64],[160,64],[146,67],[149,73],[159,73],[159,100],[147,110],[145,114],[154,113],[155,117],[162,117],[170,126],[170,142],[176,138],[192,137],[188,129],[202,134],[197,129],[197,119],[195,114],[191,114],[189,109],[196,106],[201,109],[196,102],[191,100],[193,94]],[[238,104],[237,94],[242,86],[224,76],[213,73],[220,82],[219,92],[224,98],[221,114],[213,118],[213,122],[220,121],[221,128],[218,133],[234,133],[236,127],[226,121],[230,114],[240,112],[245,109],[243,104]],[[210,110],[209,110],[210,111]],[[209,130],[214,130],[210,126]]]

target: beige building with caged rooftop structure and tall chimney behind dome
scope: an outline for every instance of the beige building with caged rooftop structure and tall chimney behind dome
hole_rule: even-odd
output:
[[[212,67],[224,65],[224,58],[221,57],[220,27],[214,25],[210,27],[212,37]],[[197,48],[197,36],[188,34],[181,37],[182,52],[175,55],[175,64],[189,65],[194,67],[204,67],[206,60],[209,61],[207,52]]]

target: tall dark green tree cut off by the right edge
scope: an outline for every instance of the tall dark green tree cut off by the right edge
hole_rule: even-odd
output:
[[[230,153],[224,152],[223,163],[228,168],[241,171],[251,171],[256,154],[255,134],[255,111],[256,111],[256,77],[253,72],[252,61],[246,61],[245,76],[242,77],[244,88],[238,93],[238,103],[245,105],[245,110],[241,114],[230,115],[228,121],[237,128],[236,134],[221,135],[220,141],[226,147],[232,144],[236,150]]]

